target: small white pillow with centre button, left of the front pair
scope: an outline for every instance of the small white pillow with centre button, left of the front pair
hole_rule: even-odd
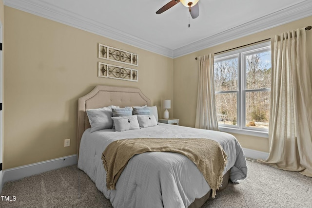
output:
[[[117,132],[139,129],[137,115],[112,117]]]

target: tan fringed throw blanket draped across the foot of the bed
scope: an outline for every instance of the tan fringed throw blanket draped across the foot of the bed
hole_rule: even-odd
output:
[[[147,151],[176,152],[188,157],[205,177],[215,198],[215,190],[222,183],[227,155],[218,142],[203,138],[138,138],[112,142],[102,154],[107,189],[116,189],[117,180],[128,161]]]

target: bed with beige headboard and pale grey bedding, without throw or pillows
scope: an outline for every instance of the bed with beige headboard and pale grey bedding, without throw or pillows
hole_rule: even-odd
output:
[[[244,152],[236,138],[225,132],[170,124],[117,132],[108,128],[91,132],[87,109],[150,106],[140,89],[97,86],[78,100],[78,168],[88,174],[114,208],[199,208],[211,197],[211,188],[196,165],[176,152],[145,152],[133,156],[123,169],[116,189],[107,189],[102,153],[113,141],[134,138],[208,138],[227,154],[224,189],[229,179],[247,176]],[[155,112],[154,112],[155,113]]]

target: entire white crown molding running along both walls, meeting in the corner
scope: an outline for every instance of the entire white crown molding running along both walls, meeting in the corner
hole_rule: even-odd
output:
[[[80,17],[78,14],[64,10],[47,2],[38,0],[3,0],[5,6],[13,7],[46,19],[51,19],[87,32],[114,39],[137,48],[151,51],[162,56],[176,58],[196,51],[219,45],[230,40],[242,38],[263,30],[267,30],[297,19],[311,16],[312,1],[306,0],[287,7],[265,17],[255,19],[232,29],[215,34],[175,50],[159,46],[155,43],[125,34],[101,22]]]

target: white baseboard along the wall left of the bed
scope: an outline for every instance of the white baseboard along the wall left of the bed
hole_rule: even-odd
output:
[[[3,178],[1,186],[7,181],[15,181],[27,176],[39,174],[49,170],[55,170],[62,167],[77,164],[77,154],[59,157],[52,160],[46,160],[39,163],[33,163],[30,165],[20,166],[17,168],[3,170]]]

